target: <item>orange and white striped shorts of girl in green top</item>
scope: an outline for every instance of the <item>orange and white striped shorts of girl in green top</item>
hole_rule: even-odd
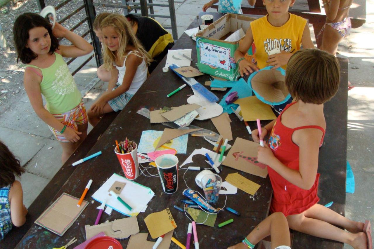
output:
[[[79,125],[86,124],[88,122],[88,117],[86,113],[86,108],[83,105],[83,102],[80,101],[79,105],[74,107],[72,110],[62,113],[62,114],[52,114],[55,119],[57,119],[62,124],[70,127],[74,130],[78,130]],[[61,134],[59,130],[48,126],[50,131],[55,135],[56,139],[60,142],[69,142],[64,134]]]

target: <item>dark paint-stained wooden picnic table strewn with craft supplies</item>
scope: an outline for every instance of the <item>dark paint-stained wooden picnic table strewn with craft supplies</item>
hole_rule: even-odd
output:
[[[214,18],[218,19],[222,14],[214,14]],[[195,19],[189,28],[197,26],[197,19]],[[191,65],[195,66],[197,62],[196,49],[194,48],[195,42],[191,40],[186,34],[183,34],[181,38],[176,42],[173,49],[185,49],[192,48],[192,58],[193,62]],[[24,237],[18,243],[16,248],[53,248],[65,245],[71,238],[76,237],[78,241],[72,245],[76,246],[79,243],[85,241],[85,225],[92,225],[95,222],[99,206],[98,202],[91,204],[92,198],[90,197],[102,183],[110,177],[113,173],[118,173],[123,175],[122,169],[119,165],[116,155],[114,154],[115,140],[124,139],[128,137],[136,142],[140,141],[141,133],[143,130],[163,130],[165,126],[162,124],[150,124],[150,120],[137,114],[137,110],[141,107],[154,107],[162,108],[164,106],[179,106],[182,104],[187,104],[187,95],[192,94],[189,87],[181,90],[171,98],[167,98],[166,95],[178,86],[183,84],[182,80],[177,77],[175,73],[169,70],[168,73],[162,72],[162,67],[165,65],[166,58],[158,65],[156,70],[148,77],[147,81],[138,90],[134,98],[129,102],[124,110],[122,110],[116,119],[108,126],[106,131],[101,135],[101,138],[95,143],[93,139],[87,140],[89,143],[84,142],[83,147],[91,148],[87,155],[93,154],[97,151],[102,151],[102,155],[91,159],[85,163],[76,166],[74,169],[70,165],[65,164],[61,170],[52,179],[59,179],[59,174],[63,174],[63,170],[70,173],[70,177],[65,181],[57,181],[55,184],[49,184],[47,186],[51,187],[51,190],[43,190],[43,192],[38,196],[37,200],[43,202],[43,205],[34,205],[35,208],[33,213],[30,213],[32,219],[30,220],[30,215],[28,215],[28,227],[19,228],[18,236],[23,234]],[[344,204],[345,204],[345,169],[346,169],[346,134],[347,134],[347,60],[340,59],[342,66],[341,70],[341,86],[337,95],[325,105],[325,116],[327,120],[327,133],[324,139],[324,145],[320,150],[320,160],[319,160],[319,172],[321,173],[319,196],[321,198],[321,204],[334,201],[332,209],[344,214]],[[196,80],[200,83],[208,80],[208,76],[196,77]],[[214,92],[219,98],[222,98],[225,92]],[[240,122],[234,114],[230,115],[232,119],[231,127],[233,133],[233,141],[236,137],[249,139],[248,132],[245,126]],[[269,121],[264,121],[262,125]],[[197,121],[195,120],[192,124],[200,126],[209,130],[216,131],[210,120]],[[255,122],[249,122],[252,129],[255,129]],[[90,136],[90,135],[89,135]],[[231,144],[233,144],[233,141]],[[338,145],[338,146],[337,146]],[[212,145],[206,142],[200,137],[188,138],[187,154],[177,154],[180,162],[184,160],[191,154],[191,152],[196,148],[205,147],[212,149]],[[83,148],[81,148],[83,151]],[[74,162],[76,158],[69,159],[69,163]],[[193,158],[194,163],[191,166],[208,166],[204,162],[205,158],[203,156],[195,156]],[[224,179],[227,174],[238,172],[229,167],[220,167],[222,172],[220,176]],[[152,169],[151,169],[152,170]],[[156,173],[156,170],[154,173]],[[138,224],[140,232],[148,232],[147,227],[144,223],[144,218],[153,212],[161,211],[167,207],[170,208],[172,215],[178,225],[174,231],[174,237],[180,242],[186,242],[187,236],[187,225],[190,220],[184,215],[184,213],[174,209],[172,206],[181,206],[181,199],[184,199],[182,191],[186,188],[186,184],[183,181],[183,170],[180,170],[179,175],[179,188],[174,194],[167,195],[163,193],[162,186],[159,177],[145,177],[140,175],[135,181],[150,187],[155,196],[148,203],[148,207],[144,213],[140,213],[138,218]],[[186,182],[188,186],[194,190],[199,190],[194,178],[198,172],[191,172],[188,170],[186,173]],[[238,190],[236,195],[228,195],[226,205],[232,207],[233,209],[241,212],[241,216],[236,216],[232,213],[221,211],[218,214],[216,225],[214,228],[198,225],[197,233],[200,242],[200,248],[226,248],[229,245],[234,245],[243,239],[260,221],[262,221],[269,212],[270,200],[272,196],[272,188],[270,185],[269,178],[260,178],[258,176],[250,175],[248,173],[239,172],[240,175],[258,183],[261,185],[260,189],[254,196],[254,200],[250,198],[249,194]],[[67,178],[68,174],[62,175],[62,178]],[[39,225],[32,224],[34,220],[49,206],[51,205],[62,193],[68,193],[72,196],[80,197],[82,191],[84,190],[89,179],[93,179],[91,188],[86,196],[86,200],[89,201],[89,205],[83,211],[82,215],[76,220],[71,228],[67,230],[64,236],[60,237],[50,231],[41,228]],[[344,191],[342,191],[344,187]],[[331,192],[334,191],[334,193]],[[201,189],[200,192],[202,193]],[[222,207],[224,205],[225,196],[221,195],[218,205],[216,207]],[[113,211],[113,213],[108,216],[103,214],[101,217],[101,222],[105,220],[113,221],[114,219],[125,218],[124,215],[119,212]],[[217,224],[226,221],[230,218],[234,219],[234,222],[230,225],[218,228]],[[245,227],[245,229],[243,229]],[[28,231],[27,229],[30,228]],[[27,231],[27,233],[25,233]],[[295,236],[294,236],[295,237]],[[306,248],[304,242],[306,240],[313,239],[314,246],[321,245],[325,243],[326,240],[317,239],[312,236],[307,236],[300,234],[298,239],[294,243],[296,246],[294,248]],[[152,240],[148,236],[148,240]],[[1,242],[1,248],[14,248],[14,245],[18,240],[12,240],[11,234],[6,237],[5,242]],[[153,240],[155,241],[155,240]],[[126,247],[128,239],[121,240],[121,244]],[[13,244],[13,246],[11,246]],[[337,245],[338,243],[331,242],[331,245]],[[301,246],[303,245],[303,246]],[[342,245],[342,244],[339,244]],[[341,248],[342,246],[335,246],[330,248]],[[171,243],[171,248],[178,248],[177,245]],[[312,248],[312,247],[311,247]]]

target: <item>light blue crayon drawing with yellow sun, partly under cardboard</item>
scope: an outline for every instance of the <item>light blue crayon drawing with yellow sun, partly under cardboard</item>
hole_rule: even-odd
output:
[[[143,130],[138,146],[138,152],[150,153],[155,151],[162,133],[162,130]],[[170,140],[170,142],[164,144],[164,147],[157,148],[157,150],[167,150],[172,148],[178,151],[178,153],[185,154],[187,151],[187,141],[188,134],[178,136],[177,138],[174,138]]]

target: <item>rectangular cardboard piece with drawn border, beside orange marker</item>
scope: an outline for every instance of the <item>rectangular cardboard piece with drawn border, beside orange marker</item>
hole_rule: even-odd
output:
[[[77,207],[78,201],[79,198],[62,193],[34,223],[62,236],[88,205],[84,200],[80,207]]]

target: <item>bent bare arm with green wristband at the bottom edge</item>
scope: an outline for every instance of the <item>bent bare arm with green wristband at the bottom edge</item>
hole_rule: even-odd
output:
[[[287,219],[283,213],[276,212],[268,216],[261,221],[246,238],[253,245],[256,245],[260,240],[269,235],[272,238],[272,248],[291,245]],[[228,249],[248,249],[248,246],[240,242],[234,246],[230,246]]]

